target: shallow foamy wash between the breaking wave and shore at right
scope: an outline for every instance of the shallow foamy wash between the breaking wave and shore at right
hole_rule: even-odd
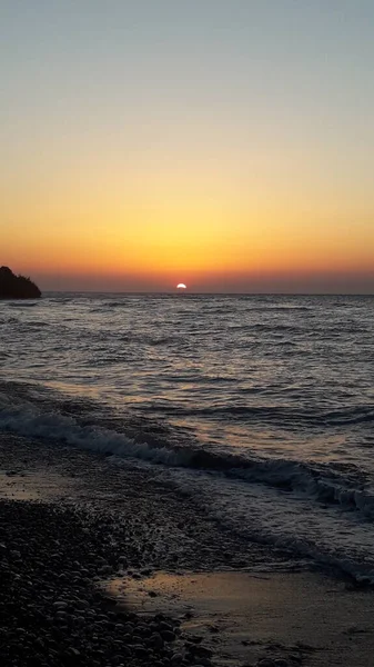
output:
[[[160,469],[159,477],[193,496],[209,516],[250,541],[286,549],[374,584],[373,526],[357,521],[355,512],[321,509],[306,497],[203,471]]]

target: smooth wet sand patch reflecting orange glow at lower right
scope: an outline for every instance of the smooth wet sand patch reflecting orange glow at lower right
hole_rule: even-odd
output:
[[[264,654],[311,666],[373,665],[373,593],[347,591],[322,575],[160,573],[112,580],[107,591],[140,614],[172,614],[222,666],[255,665]]]

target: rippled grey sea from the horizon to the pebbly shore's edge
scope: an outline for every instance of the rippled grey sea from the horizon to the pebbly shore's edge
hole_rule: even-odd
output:
[[[0,428],[105,451],[374,581],[374,298],[0,302]]]

